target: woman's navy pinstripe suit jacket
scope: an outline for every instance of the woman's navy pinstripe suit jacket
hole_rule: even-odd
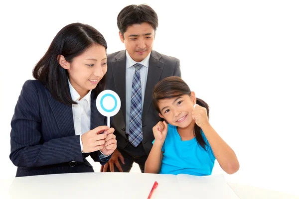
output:
[[[91,129],[107,125],[106,117],[96,108],[95,97],[92,92]],[[26,81],[11,120],[9,158],[18,167],[16,177],[93,172],[85,159],[89,155],[102,165],[108,162],[111,156],[101,158],[99,151],[82,153],[79,138],[72,106],[54,100],[38,80]],[[71,161],[77,166],[70,167]]]

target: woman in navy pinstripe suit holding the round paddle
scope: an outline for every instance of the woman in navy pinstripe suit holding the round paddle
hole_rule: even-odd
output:
[[[24,83],[11,120],[9,155],[16,177],[94,172],[116,149],[114,128],[96,108],[104,90],[107,44],[95,28],[62,28]]]

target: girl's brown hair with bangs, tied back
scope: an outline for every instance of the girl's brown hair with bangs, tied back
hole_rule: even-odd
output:
[[[153,88],[153,93],[152,93],[153,106],[159,113],[161,113],[159,110],[159,107],[158,107],[159,100],[177,98],[177,97],[184,96],[184,95],[190,96],[190,93],[191,93],[190,88],[181,78],[176,77],[176,76],[167,77],[167,78],[159,81]],[[200,100],[198,98],[196,98],[196,103],[207,109],[207,115],[209,117],[208,104],[205,101]],[[206,150],[206,148],[205,148],[206,143],[202,138],[201,128],[197,125],[194,126],[194,136],[195,136],[198,144],[204,150]]]

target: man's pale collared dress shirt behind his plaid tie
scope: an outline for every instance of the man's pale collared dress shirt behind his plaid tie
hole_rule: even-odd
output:
[[[141,62],[134,61],[128,51],[126,51],[126,133],[130,133],[129,124],[130,124],[130,112],[131,112],[131,97],[132,97],[132,82],[133,76],[135,73],[135,67],[133,66],[136,63],[142,64],[143,67],[140,69],[140,78],[141,78],[141,93],[142,93],[142,108],[144,104],[148,71],[149,71],[149,55],[142,60]]]

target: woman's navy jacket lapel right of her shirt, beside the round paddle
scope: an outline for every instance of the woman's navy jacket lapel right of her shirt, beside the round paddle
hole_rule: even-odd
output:
[[[97,109],[96,106],[96,99],[95,93],[91,92],[91,101],[90,101],[90,129],[94,129],[98,126],[107,125],[107,119],[103,116]],[[106,123],[104,123],[106,121]]]

